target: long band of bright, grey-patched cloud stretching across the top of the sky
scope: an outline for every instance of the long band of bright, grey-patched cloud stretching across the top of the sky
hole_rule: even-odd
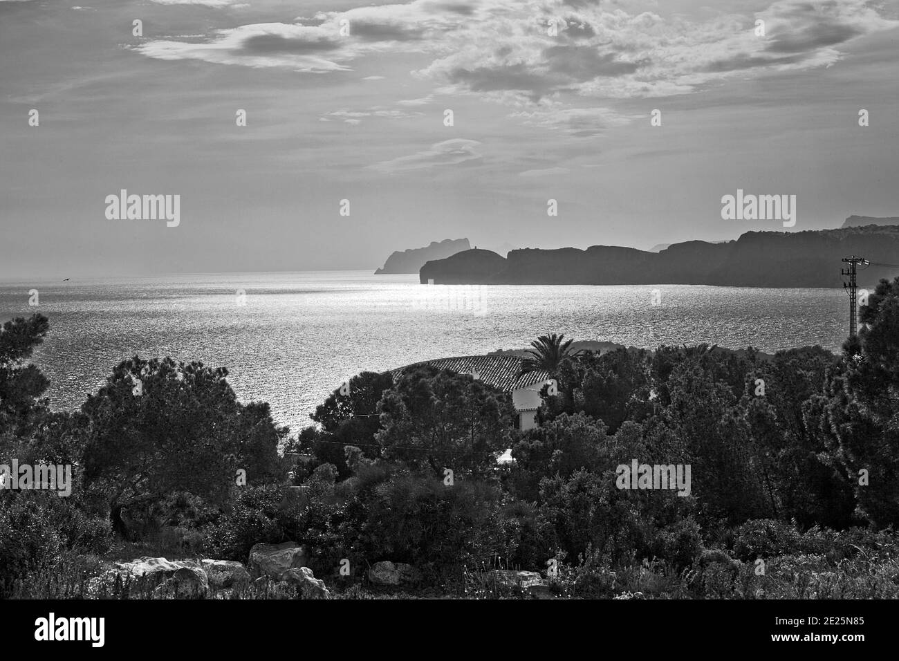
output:
[[[432,81],[434,93],[472,94],[531,110],[564,103],[575,112],[554,126],[567,124],[572,135],[591,136],[596,133],[589,127],[571,130],[592,121],[576,110],[583,99],[604,103],[691,94],[728,79],[829,67],[844,57],[838,48],[847,41],[899,26],[867,0],[775,0],[760,12],[703,19],[622,6],[588,0],[412,0],[319,12],[294,23],[243,25],[200,42],[155,40],[132,48],[150,58],[317,74],[352,70],[363,60],[378,66],[386,58],[414,57],[423,60],[414,76]],[[757,19],[765,22],[764,37],[755,34]],[[548,34],[550,21],[558,26],[555,36]],[[341,34],[342,25],[349,26],[349,35]]]

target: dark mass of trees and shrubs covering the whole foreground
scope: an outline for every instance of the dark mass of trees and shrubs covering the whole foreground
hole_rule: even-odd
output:
[[[0,333],[0,457],[76,469],[67,498],[0,491],[0,593],[79,596],[111,558],[245,562],[254,543],[293,540],[343,598],[521,595],[496,568],[570,597],[896,598],[899,279],[861,321],[839,355],[572,355],[550,335],[529,365],[556,394],[527,432],[469,375],[363,372],[289,437],[267,405],[236,401],[227,371],[170,359],[122,362],[80,411],[50,411],[26,364],[47,320],[15,319]],[[622,488],[635,460],[689,466],[689,490]],[[387,559],[417,582],[369,585]]]

